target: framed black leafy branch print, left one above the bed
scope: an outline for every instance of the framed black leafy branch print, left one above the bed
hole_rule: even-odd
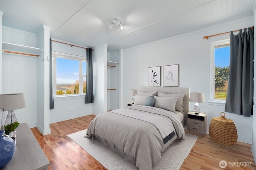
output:
[[[148,86],[161,86],[161,66],[148,67]]]

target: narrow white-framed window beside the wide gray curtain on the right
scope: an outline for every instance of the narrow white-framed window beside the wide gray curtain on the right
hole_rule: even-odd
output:
[[[211,101],[226,101],[229,60],[230,39],[211,44]]]

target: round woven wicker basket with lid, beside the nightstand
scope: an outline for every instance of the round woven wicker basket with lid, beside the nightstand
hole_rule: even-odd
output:
[[[225,117],[224,112],[220,113],[220,117],[212,118],[209,135],[213,141],[222,145],[235,145],[237,142],[236,125],[232,120]]]

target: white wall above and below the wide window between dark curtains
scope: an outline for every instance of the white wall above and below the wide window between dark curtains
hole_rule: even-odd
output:
[[[65,42],[58,39],[52,40]],[[71,47],[71,45],[54,41],[52,41],[52,51],[86,57],[86,49],[75,46]],[[73,110],[69,110],[69,107],[71,106],[73,107]],[[85,95],[75,97],[58,96],[54,98],[54,109],[50,110],[50,123],[74,119],[90,114],[92,114],[92,104],[85,104]]]

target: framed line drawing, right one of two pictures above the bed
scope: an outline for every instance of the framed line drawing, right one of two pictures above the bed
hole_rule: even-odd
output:
[[[178,87],[179,65],[163,66],[163,86]]]

